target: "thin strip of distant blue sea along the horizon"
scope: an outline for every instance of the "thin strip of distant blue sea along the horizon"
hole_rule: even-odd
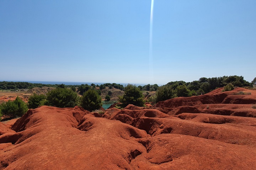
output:
[[[5,80],[1,80],[5,81]],[[92,83],[95,85],[101,85],[104,83],[99,83],[99,82],[69,82],[69,81],[13,81],[13,82],[28,82],[28,83],[41,83],[41,84],[65,84],[65,85],[81,85],[81,84],[88,84],[91,85]],[[109,82],[112,83],[112,82]],[[116,84],[121,84],[123,86],[126,86],[128,83],[116,83]],[[130,83],[130,84],[135,84],[135,83]],[[135,84],[136,86],[144,86],[147,84]]]

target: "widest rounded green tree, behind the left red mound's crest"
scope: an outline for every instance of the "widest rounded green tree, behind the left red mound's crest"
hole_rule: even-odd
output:
[[[78,95],[71,89],[59,88],[49,91],[46,94],[47,105],[54,107],[75,107]]]

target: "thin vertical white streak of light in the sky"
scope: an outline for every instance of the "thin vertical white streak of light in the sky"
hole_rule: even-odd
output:
[[[149,30],[149,68],[151,74],[151,81],[154,81],[153,75],[153,49],[152,49],[152,35],[153,35],[153,11],[154,11],[154,0],[151,0],[151,12],[150,12],[150,30]]]

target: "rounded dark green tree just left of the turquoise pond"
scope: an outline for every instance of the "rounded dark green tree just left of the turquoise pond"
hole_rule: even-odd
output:
[[[95,90],[87,90],[82,96],[81,105],[87,111],[99,109],[102,106],[101,97]]]

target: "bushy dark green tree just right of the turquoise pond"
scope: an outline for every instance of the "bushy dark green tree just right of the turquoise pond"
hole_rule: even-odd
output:
[[[118,98],[123,107],[126,107],[128,104],[143,106],[145,103],[142,91],[140,91],[139,87],[132,84],[128,84],[124,87],[124,95]]]

